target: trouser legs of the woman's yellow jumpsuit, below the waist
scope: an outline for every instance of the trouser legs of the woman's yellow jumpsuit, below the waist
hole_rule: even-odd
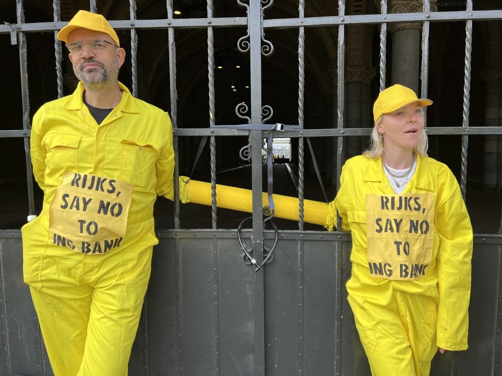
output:
[[[374,291],[373,291],[374,292]],[[366,292],[361,292],[362,297]],[[437,352],[437,303],[393,291],[388,305],[349,295],[355,324],[373,376],[428,376]]]

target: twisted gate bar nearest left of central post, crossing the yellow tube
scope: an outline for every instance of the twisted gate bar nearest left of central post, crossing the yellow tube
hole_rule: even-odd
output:
[[[213,17],[213,1],[207,0],[207,18]],[[207,79],[209,85],[209,127],[214,126],[214,33],[211,26],[207,27]],[[211,172],[211,224],[216,230],[216,139],[209,138],[210,172]]]

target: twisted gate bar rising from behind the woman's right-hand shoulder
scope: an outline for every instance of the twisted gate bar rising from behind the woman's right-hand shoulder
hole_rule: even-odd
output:
[[[467,12],[472,12],[472,0],[467,0]],[[472,20],[465,23],[465,66],[464,66],[464,101],[462,111],[462,127],[469,127],[469,102],[470,102],[470,74],[471,74],[471,53],[472,53]],[[469,146],[469,136],[462,135],[462,165],[460,173],[460,192],[465,201],[467,182],[467,147]]]

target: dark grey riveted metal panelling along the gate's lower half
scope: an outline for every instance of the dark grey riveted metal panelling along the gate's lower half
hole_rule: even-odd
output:
[[[257,340],[264,341],[267,375],[369,374],[346,301],[347,234],[281,232],[273,262],[263,270],[265,336],[256,338],[256,274],[243,262],[235,231],[196,233],[159,234],[131,354],[131,375],[252,375]],[[7,349],[2,352],[1,374],[51,374],[29,288],[22,282],[20,232],[0,235],[0,343]],[[270,234],[265,238],[270,241]],[[249,241],[250,233],[243,234],[244,244],[249,246]],[[432,376],[498,374],[501,248],[500,236],[475,237],[469,349],[437,354]],[[338,271],[341,285],[336,282]]]

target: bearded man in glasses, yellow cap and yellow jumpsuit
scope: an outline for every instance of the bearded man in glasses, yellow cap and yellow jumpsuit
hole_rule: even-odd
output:
[[[22,229],[24,280],[56,376],[123,376],[158,243],[153,205],[173,199],[171,120],[118,82],[125,51],[101,15],[79,11],[57,38],[80,82],[33,118],[44,203]]]

